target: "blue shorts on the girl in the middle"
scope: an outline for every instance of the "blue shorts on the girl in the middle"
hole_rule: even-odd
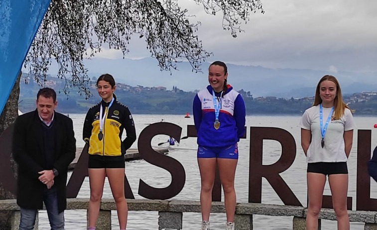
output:
[[[198,146],[198,158],[226,158],[238,159],[237,143],[228,147],[203,147]]]

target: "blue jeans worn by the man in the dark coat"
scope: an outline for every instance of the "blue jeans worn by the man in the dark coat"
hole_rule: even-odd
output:
[[[43,202],[46,206],[51,230],[64,230],[64,212],[58,213],[58,201],[56,188],[43,191]],[[38,210],[21,208],[21,220],[19,230],[33,230]]]

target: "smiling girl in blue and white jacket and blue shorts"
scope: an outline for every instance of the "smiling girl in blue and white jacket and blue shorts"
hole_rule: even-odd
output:
[[[216,164],[224,189],[226,229],[235,229],[234,180],[238,161],[237,143],[245,134],[246,109],[241,94],[227,84],[227,78],[228,69],[225,63],[212,63],[208,73],[210,85],[199,91],[193,102],[194,123],[198,136],[197,157],[202,182],[202,230],[209,230]]]

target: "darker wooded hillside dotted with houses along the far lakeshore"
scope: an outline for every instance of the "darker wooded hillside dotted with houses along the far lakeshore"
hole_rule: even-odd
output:
[[[24,82],[23,75],[21,82]],[[92,82],[91,91],[93,96],[88,100],[77,93],[78,89],[71,89],[71,93],[65,95],[59,93],[59,89],[64,87],[65,82],[56,77],[48,77],[46,86],[54,88],[58,95],[57,111],[62,113],[86,113],[92,105],[101,100]],[[28,84],[20,84],[19,109],[27,112],[35,109],[35,97],[40,86],[29,80]],[[276,96],[256,98],[251,96],[251,91],[238,90],[243,96],[248,115],[253,114],[296,114],[311,106],[313,101],[314,88],[307,88],[310,91],[309,98],[289,99],[277,98]],[[362,90],[364,91],[364,90]],[[313,92],[313,93],[312,93]],[[186,92],[177,87],[165,90],[164,87],[144,87],[136,85],[125,85],[118,83],[115,91],[117,98],[126,104],[134,114],[185,114],[192,111],[192,101],[195,92]],[[346,102],[352,103],[352,108],[356,109],[355,115],[377,115],[377,95],[352,95],[344,97]],[[356,103],[355,103],[356,102]]]

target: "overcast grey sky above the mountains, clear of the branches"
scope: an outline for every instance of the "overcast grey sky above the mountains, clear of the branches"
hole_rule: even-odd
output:
[[[193,0],[179,0],[192,22],[201,21],[199,39],[214,56],[207,61],[350,72],[377,72],[376,0],[261,0],[265,13],[252,13],[238,33],[222,29],[222,15],[208,15]],[[149,57],[143,40],[133,39],[126,58]],[[97,57],[118,59],[105,50]],[[156,64],[157,65],[157,64]]]

